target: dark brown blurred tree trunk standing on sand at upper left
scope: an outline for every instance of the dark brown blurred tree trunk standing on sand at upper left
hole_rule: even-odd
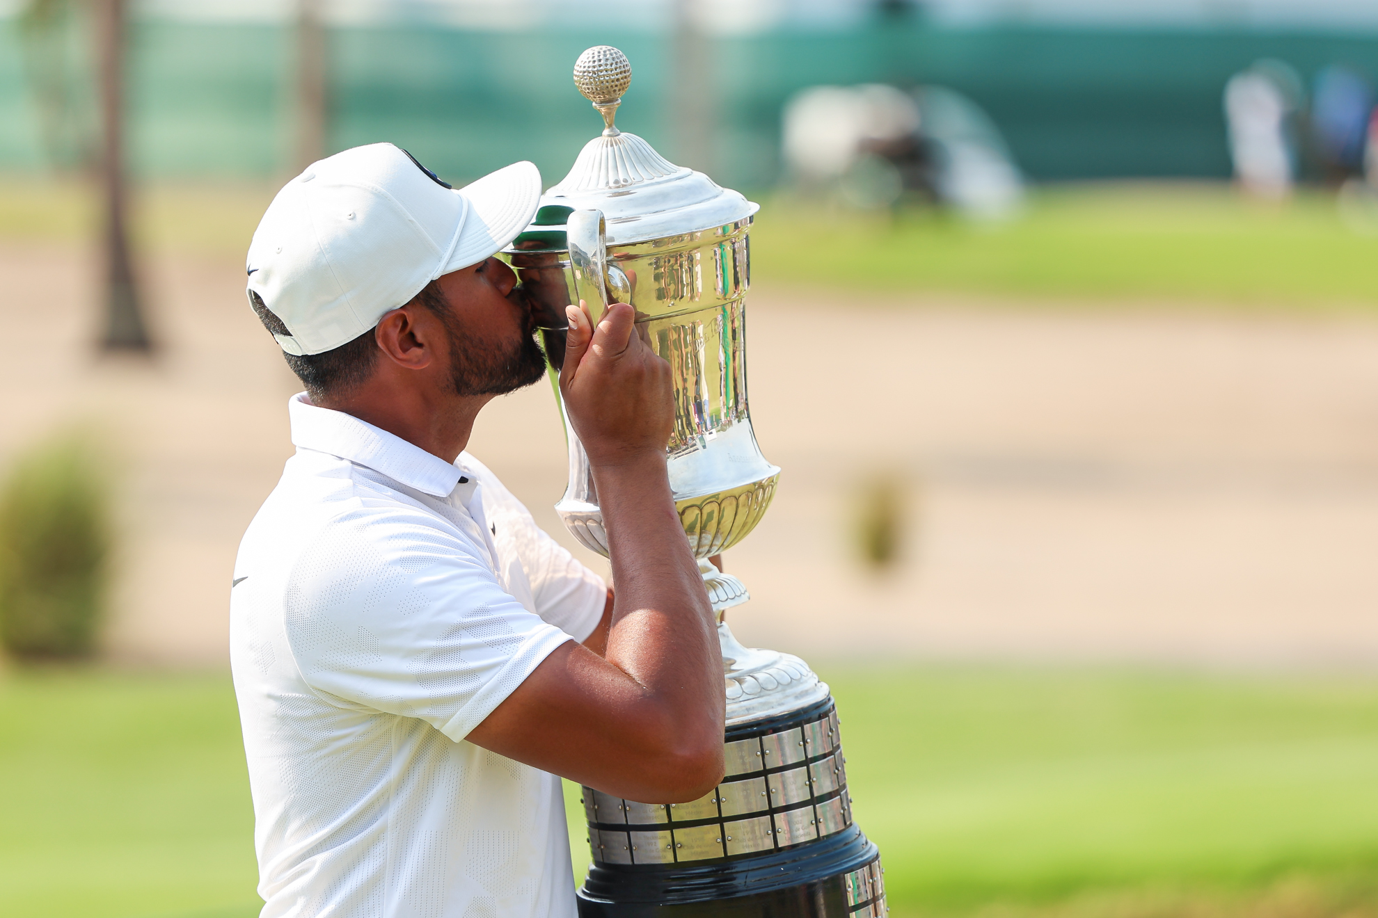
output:
[[[139,311],[130,266],[124,182],[124,47],[125,0],[96,0],[95,34],[101,81],[101,190],[105,197],[105,336],[106,351],[153,350]]]

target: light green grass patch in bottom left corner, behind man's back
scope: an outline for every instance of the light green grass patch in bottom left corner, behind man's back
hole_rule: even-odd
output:
[[[227,673],[6,673],[0,786],[6,918],[249,918],[262,907]]]

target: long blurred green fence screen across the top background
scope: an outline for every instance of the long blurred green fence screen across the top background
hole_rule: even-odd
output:
[[[332,146],[394,140],[459,180],[531,158],[554,183],[599,125],[569,78],[573,59],[593,44],[616,44],[633,61],[619,125],[674,160],[671,39],[615,28],[333,29]],[[274,25],[135,23],[135,168],[157,176],[282,175],[291,47],[291,34]],[[0,23],[0,168],[33,169],[43,165],[43,145],[19,51],[19,30]],[[1290,62],[1308,80],[1339,62],[1378,76],[1378,36],[907,23],[717,39],[710,165],[728,184],[774,182],[780,111],[792,92],[879,80],[967,94],[1035,179],[1225,176],[1221,91],[1262,56]]]

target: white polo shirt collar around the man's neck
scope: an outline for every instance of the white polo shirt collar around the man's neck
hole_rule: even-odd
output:
[[[365,465],[433,497],[448,497],[459,483],[460,471],[451,462],[353,414],[317,407],[306,392],[288,399],[287,414],[294,446]]]

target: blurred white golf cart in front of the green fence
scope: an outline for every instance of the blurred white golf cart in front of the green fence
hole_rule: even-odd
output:
[[[835,190],[863,209],[908,194],[977,217],[1005,216],[1022,180],[995,124],[943,87],[812,87],[784,110],[783,153],[794,183]]]

